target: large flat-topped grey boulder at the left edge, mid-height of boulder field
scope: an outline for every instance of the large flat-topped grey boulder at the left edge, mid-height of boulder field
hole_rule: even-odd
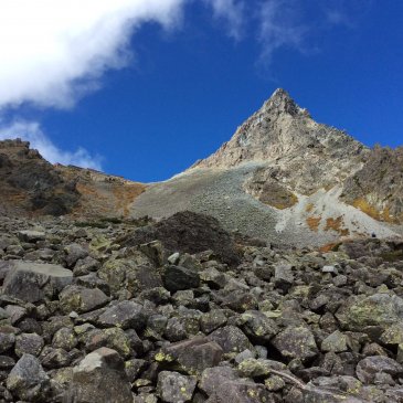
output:
[[[60,265],[21,261],[10,265],[2,294],[28,303],[53,298],[73,282],[73,273]]]

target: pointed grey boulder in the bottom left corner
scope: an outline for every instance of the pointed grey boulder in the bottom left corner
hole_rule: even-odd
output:
[[[46,402],[50,379],[35,357],[23,354],[7,378],[7,388],[20,400]]]

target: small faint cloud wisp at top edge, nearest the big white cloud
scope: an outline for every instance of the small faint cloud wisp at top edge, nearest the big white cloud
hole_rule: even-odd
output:
[[[245,3],[236,0],[205,0],[213,8],[214,17],[224,19],[230,36],[240,40],[245,23]]]

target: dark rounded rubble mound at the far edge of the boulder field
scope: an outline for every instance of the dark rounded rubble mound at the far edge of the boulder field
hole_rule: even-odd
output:
[[[155,240],[171,253],[194,254],[211,250],[224,263],[236,265],[240,262],[231,235],[216,219],[204,214],[179,212],[155,225],[138,229],[123,244],[135,246]]]

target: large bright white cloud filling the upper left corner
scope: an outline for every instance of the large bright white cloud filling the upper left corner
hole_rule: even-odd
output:
[[[2,0],[0,107],[71,107],[128,61],[130,33],[176,23],[187,0]]]

